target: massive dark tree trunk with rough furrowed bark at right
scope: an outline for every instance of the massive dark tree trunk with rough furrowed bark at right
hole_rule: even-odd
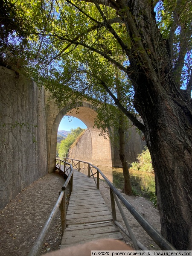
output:
[[[121,17],[131,38],[130,49],[125,49],[130,60],[127,73],[154,167],[161,232],[178,250],[192,250],[191,99],[175,82],[170,49],[157,27],[153,1],[116,3],[125,10]]]

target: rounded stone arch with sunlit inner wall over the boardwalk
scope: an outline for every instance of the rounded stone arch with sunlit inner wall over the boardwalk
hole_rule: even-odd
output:
[[[89,161],[95,165],[112,166],[111,143],[109,140],[105,140],[104,137],[99,136],[99,130],[97,128],[93,128],[94,118],[96,117],[95,107],[88,102],[79,102],[73,108],[69,109],[69,107],[66,106],[61,110],[58,109],[58,114],[52,114],[52,118],[55,119],[52,128],[48,130],[50,136],[47,134],[47,137],[50,138],[47,140],[49,172],[53,172],[55,168],[57,131],[63,116],[77,117],[87,125],[87,132],[90,137],[89,155],[87,155],[87,159],[79,160]]]

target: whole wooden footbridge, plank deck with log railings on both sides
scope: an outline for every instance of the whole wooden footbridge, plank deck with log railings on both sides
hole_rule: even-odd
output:
[[[83,164],[83,168],[80,168],[80,164]],[[84,168],[85,165],[87,165],[87,169]],[[63,233],[61,248],[103,238],[122,240],[122,234],[119,232],[119,230],[121,230],[132,240],[136,250],[147,250],[143,244],[135,239],[131,227],[128,224],[128,220],[125,218],[125,214],[119,204],[119,200],[162,250],[175,250],[172,244],[166,241],[166,239],[137,212],[96,166],[87,162],[67,158],[64,160],[56,159],[55,169],[58,169],[60,173],[66,175],[67,180],[61,189],[59,198],[47,222],[44,224],[41,233],[30,250],[29,256],[40,255],[41,248],[43,247],[52,220],[58,209],[61,211]],[[94,170],[96,171],[95,173],[93,173]],[[85,172],[85,174],[80,171]],[[110,188],[112,215],[99,192],[99,175],[104,178]],[[65,190],[69,183],[71,195],[66,215]],[[116,206],[119,208],[127,230],[116,220]]]

